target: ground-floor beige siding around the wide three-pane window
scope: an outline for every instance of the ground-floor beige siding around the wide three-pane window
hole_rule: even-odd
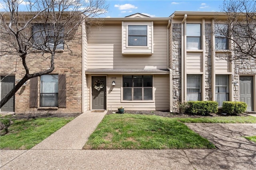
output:
[[[112,86],[113,79],[115,86]],[[122,75],[108,76],[107,84],[107,109],[116,111],[122,106],[125,110],[168,110],[169,109],[169,75],[154,75],[154,102],[129,101],[121,102]]]

